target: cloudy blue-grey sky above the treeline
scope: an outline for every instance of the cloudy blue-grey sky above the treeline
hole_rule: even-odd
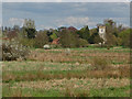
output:
[[[57,29],[59,26],[75,26],[80,29],[84,25],[92,29],[98,23],[103,23],[105,19],[112,19],[118,24],[125,26],[130,25],[130,3],[124,0],[122,2],[120,0],[120,2],[61,1],[8,2],[6,0],[2,2],[2,25],[22,26],[24,19],[34,20],[37,30]]]

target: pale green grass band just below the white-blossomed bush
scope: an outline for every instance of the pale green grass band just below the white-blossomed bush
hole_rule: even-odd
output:
[[[64,63],[46,63],[46,62],[6,62],[3,63],[3,70],[4,72],[37,72],[37,70],[44,70],[44,72],[62,72],[68,70],[80,70],[89,67],[89,65],[79,65],[76,66],[73,62],[64,62]],[[19,64],[19,65],[18,65]],[[4,73],[3,73],[4,74]]]

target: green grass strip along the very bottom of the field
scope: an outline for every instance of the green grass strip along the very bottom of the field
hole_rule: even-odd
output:
[[[16,88],[12,89],[4,87],[2,91],[3,97],[130,97],[130,86],[124,86],[120,88],[102,88],[102,89],[90,89],[81,90],[81,88],[73,90],[68,89],[66,91],[55,90],[55,89],[32,89],[32,88]],[[86,94],[87,92],[87,94]],[[72,95],[70,95],[72,94]]]

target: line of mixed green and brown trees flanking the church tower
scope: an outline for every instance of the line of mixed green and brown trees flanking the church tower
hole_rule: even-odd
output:
[[[3,37],[15,40],[24,46],[41,48],[45,44],[53,47],[87,47],[89,44],[99,44],[101,47],[130,46],[130,29],[122,24],[117,25],[113,20],[105,20],[106,43],[99,36],[98,26],[89,30],[88,25],[77,30],[74,26],[58,28],[36,31],[35,22],[31,19],[25,20],[22,28],[2,28]]]

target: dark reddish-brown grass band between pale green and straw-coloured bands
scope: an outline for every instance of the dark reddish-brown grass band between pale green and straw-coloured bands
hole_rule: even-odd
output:
[[[124,70],[125,69],[125,70]],[[103,70],[82,70],[80,73],[67,72],[66,74],[45,74],[43,70],[34,73],[26,73],[24,75],[16,75],[13,73],[4,73],[2,81],[10,80],[37,80],[37,79],[62,79],[62,78],[123,78],[130,77],[130,68],[119,67],[119,69],[103,69]]]

